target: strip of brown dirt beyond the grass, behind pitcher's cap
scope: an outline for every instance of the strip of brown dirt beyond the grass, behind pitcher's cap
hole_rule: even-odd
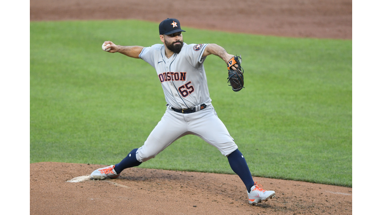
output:
[[[31,0],[30,20],[177,18],[182,26],[352,39],[352,0]]]

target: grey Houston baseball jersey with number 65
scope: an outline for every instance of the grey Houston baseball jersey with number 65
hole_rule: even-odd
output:
[[[183,44],[179,54],[167,58],[165,46],[156,44],[142,50],[139,57],[157,71],[167,104],[171,107],[193,108],[211,103],[202,57],[208,44]],[[195,83],[195,84],[194,84]]]

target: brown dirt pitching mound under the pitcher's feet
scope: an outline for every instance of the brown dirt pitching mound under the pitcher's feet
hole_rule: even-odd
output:
[[[30,164],[30,214],[352,214],[352,188],[254,177],[276,197],[251,206],[237,175],[130,168],[117,179],[91,180],[100,167]]]

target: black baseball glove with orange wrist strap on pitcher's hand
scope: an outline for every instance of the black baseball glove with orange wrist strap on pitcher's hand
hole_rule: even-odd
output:
[[[232,67],[238,65],[236,70],[233,70]],[[244,88],[244,69],[241,67],[241,56],[232,57],[227,63],[228,69],[228,82],[231,84],[232,90],[235,92],[240,91]],[[228,83],[227,82],[227,83]]]

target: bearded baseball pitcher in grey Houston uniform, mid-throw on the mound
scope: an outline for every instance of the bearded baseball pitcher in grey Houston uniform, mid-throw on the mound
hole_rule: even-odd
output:
[[[159,37],[163,44],[151,47],[120,46],[105,41],[102,48],[110,53],[119,52],[140,58],[155,68],[167,102],[166,112],[152,130],[144,144],[133,149],[120,163],[95,170],[91,178],[116,178],[122,170],[140,165],[154,158],[177,139],[193,134],[215,146],[247,189],[249,204],[275,197],[252,179],[244,156],[223,122],[217,116],[209,97],[203,63],[208,55],[216,55],[227,64],[228,82],[237,92],[244,87],[241,57],[228,54],[216,44],[186,44],[185,30],[178,19],[167,18],[159,24]]]

